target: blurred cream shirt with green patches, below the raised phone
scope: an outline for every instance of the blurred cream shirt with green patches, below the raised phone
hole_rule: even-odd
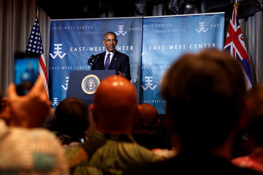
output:
[[[56,135],[43,128],[11,128],[0,119],[0,174],[69,175],[69,168]]]

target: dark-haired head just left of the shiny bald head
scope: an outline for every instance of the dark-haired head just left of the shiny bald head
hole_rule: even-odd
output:
[[[55,110],[55,130],[64,148],[81,143],[89,127],[87,105],[77,98],[66,98]]]

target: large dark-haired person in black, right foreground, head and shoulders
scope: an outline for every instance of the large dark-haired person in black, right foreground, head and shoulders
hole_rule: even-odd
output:
[[[245,121],[245,87],[240,64],[226,52],[205,49],[178,58],[164,75],[161,92],[165,123],[180,151],[143,173],[258,174],[230,162],[233,138]]]

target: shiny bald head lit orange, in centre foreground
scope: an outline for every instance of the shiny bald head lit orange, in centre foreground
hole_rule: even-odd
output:
[[[138,112],[136,89],[125,78],[106,77],[100,83],[90,109],[98,131],[130,132]]]

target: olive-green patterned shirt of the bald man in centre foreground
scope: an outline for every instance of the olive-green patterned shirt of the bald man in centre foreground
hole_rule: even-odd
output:
[[[73,150],[74,147],[69,149]],[[69,149],[66,155],[70,154]],[[83,149],[87,153],[88,159],[74,168],[74,175],[117,175],[122,174],[123,170],[131,167],[164,160],[162,156],[139,145],[132,136],[108,134],[99,131],[96,131],[89,140],[81,144],[79,150]],[[74,151],[76,151],[76,147]]]

